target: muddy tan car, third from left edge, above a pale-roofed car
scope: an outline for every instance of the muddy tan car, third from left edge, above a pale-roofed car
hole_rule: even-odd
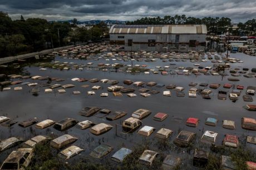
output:
[[[53,139],[50,142],[50,146],[56,149],[63,148],[68,144],[75,142],[78,138],[71,136],[70,134],[64,134],[60,137]]]

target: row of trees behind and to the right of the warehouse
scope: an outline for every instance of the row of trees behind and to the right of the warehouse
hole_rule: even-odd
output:
[[[186,17],[176,14],[175,16],[144,17],[126,24],[205,24],[208,34],[216,35],[229,32],[235,36],[255,36],[256,19],[248,20],[245,23],[238,23],[237,28],[232,28],[232,19],[227,17]]]

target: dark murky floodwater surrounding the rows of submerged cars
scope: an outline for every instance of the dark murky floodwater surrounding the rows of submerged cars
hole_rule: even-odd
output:
[[[239,58],[240,60],[244,61],[243,63],[230,63],[232,68],[240,68],[242,70],[243,67],[248,67],[250,70],[256,67],[256,57],[250,57],[243,53],[236,53],[230,54],[233,58]],[[98,55],[99,56],[99,55]],[[93,62],[93,66],[97,66],[97,63],[124,63],[124,64],[131,64],[131,61],[106,61],[105,59],[99,59],[99,61],[91,60],[79,60],[79,59],[64,59],[60,57],[56,57],[55,61],[60,62],[74,62],[78,64],[86,64],[87,62]],[[52,61],[53,62],[53,61]],[[170,63],[175,63],[175,66],[170,66]],[[193,64],[189,60],[186,62],[162,62],[161,59],[157,59],[156,62],[137,62],[134,61],[133,64],[147,64],[147,68],[155,69],[156,66],[170,66],[169,70],[176,70],[180,66],[184,67],[194,67]],[[200,66],[213,66],[213,63],[210,61],[208,62],[200,62],[198,63]],[[1,68],[0,74],[10,72],[9,68]],[[13,71],[16,72],[16,71]],[[12,72],[12,73],[13,73]],[[81,130],[75,127],[68,129],[67,131],[60,132],[54,129],[53,127],[47,129],[36,129],[34,126],[22,128],[19,127],[18,124],[15,124],[11,128],[0,126],[0,139],[6,139],[9,137],[23,137],[24,139],[29,139],[33,136],[39,134],[53,134],[56,137],[61,136],[62,134],[73,134],[77,136],[79,139],[74,143],[77,146],[82,147],[85,149],[85,152],[82,152],[78,157],[90,157],[88,154],[100,143],[110,144],[114,148],[110,154],[106,157],[102,158],[103,160],[110,159],[112,154],[114,154],[118,149],[121,147],[133,148],[136,146],[137,143],[143,143],[145,141],[151,142],[150,149],[152,151],[157,150],[157,139],[155,137],[155,133],[158,129],[164,127],[171,129],[174,131],[172,136],[169,138],[169,141],[172,143],[175,137],[178,135],[180,130],[188,130],[195,132],[197,135],[197,141],[195,142],[195,146],[199,145],[199,139],[202,136],[203,132],[206,130],[214,131],[218,133],[216,138],[216,144],[221,145],[221,142],[224,138],[225,134],[236,134],[240,137],[240,141],[245,140],[245,136],[250,135],[254,136],[254,131],[247,131],[242,129],[240,126],[240,119],[242,117],[251,117],[256,118],[255,112],[250,112],[245,110],[242,106],[245,104],[251,103],[255,104],[255,96],[253,96],[254,102],[244,102],[243,101],[243,94],[245,94],[245,89],[247,86],[256,86],[256,79],[255,78],[245,78],[243,76],[235,77],[239,78],[240,81],[238,82],[230,82],[228,81],[228,77],[231,76],[205,76],[201,74],[201,76],[195,76],[194,74],[190,76],[178,76],[178,75],[170,75],[162,76],[159,74],[131,74],[126,72],[102,72],[102,71],[95,71],[93,68],[84,68],[82,71],[78,70],[68,70],[68,71],[60,71],[57,69],[50,69],[47,68],[46,71],[40,71],[39,67],[35,66],[26,66],[23,67],[22,73],[29,74],[31,76],[49,76],[49,77],[58,77],[58,78],[65,78],[66,80],[63,82],[55,82],[52,81],[52,84],[60,83],[64,84],[74,84],[75,87],[66,89],[66,93],[59,94],[57,93],[57,89],[54,89],[53,93],[44,93],[44,89],[47,87],[40,87],[40,92],[38,96],[33,96],[31,93],[31,87],[22,86],[21,84],[17,84],[11,86],[12,89],[10,91],[2,91],[0,92],[0,116],[7,116],[10,118],[15,119],[18,122],[24,121],[28,118],[36,117],[38,121],[43,121],[45,119],[52,119],[53,121],[60,121],[63,118],[75,118],[78,121],[85,121],[90,120],[96,123],[109,123],[114,128],[112,128],[109,132],[104,133],[100,136],[95,136],[89,132],[89,129]],[[21,72],[16,72],[16,74],[22,74]],[[230,74],[229,71],[226,73]],[[139,91],[137,87],[132,85],[125,86],[125,87],[132,87],[135,88],[136,97],[130,98],[127,97],[126,94],[123,94],[122,97],[114,97],[109,92],[109,97],[100,97],[100,94],[103,92],[107,92],[107,87],[111,86],[110,84],[104,84],[101,82],[98,83],[90,83],[90,82],[75,82],[71,81],[72,78],[98,78],[98,79],[115,79],[119,81],[119,84],[122,86],[122,82],[125,79],[130,79],[131,81],[143,81],[143,82],[150,82],[154,81],[156,83],[168,84],[176,84],[177,86],[184,87],[185,90],[185,97],[176,97],[176,94],[173,90],[171,97],[163,96],[163,91],[169,90],[165,87],[148,87],[145,88],[155,89],[160,91],[158,94],[152,94],[151,97],[144,98],[139,95]],[[15,81],[18,79],[15,79]],[[32,80],[32,79],[21,79],[23,82],[37,82],[38,84],[46,84],[47,80],[40,81],[40,80]],[[190,82],[200,83],[220,83],[221,86],[218,89],[211,89],[213,93],[210,94],[211,99],[203,99],[199,94],[196,98],[189,98],[188,91],[189,87],[188,84]],[[237,102],[232,102],[228,98],[225,101],[219,100],[217,98],[218,91],[223,89],[224,83],[232,83],[235,86],[243,85],[245,89],[242,91],[242,94],[239,96]],[[81,87],[84,84],[90,85],[90,87],[83,88]],[[87,96],[87,91],[91,91],[91,87],[99,85],[102,88],[95,91],[96,95],[94,96]],[[13,91],[14,87],[21,86],[23,87],[22,91]],[[39,87],[39,86],[38,86]],[[204,88],[196,86],[197,88]],[[207,88],[207,87],[206,87]],[[209,89],[209,87],[208,87]],[[232,89],[225,89],[229,92]],[[81,94],[74,95],[72,94],[73,91],[80,91]],[[78,112],[87,106],[96,106],[100,108],[107,108],[110,109],[112,112],[115,111],[125,111],[127,115],[122,117],[121,119],[117,119],[116,121],[107,121],[106,118],[99,118],[96,116],[92,117],[82,117],[78,114]],[[126,139],[125,136],[118,137],[116,136],[116,128],[115,124],[121,124],[121,121],[131,117],[132,112],[136,111],[139,108],[149,109],[152,113],[150,116],[142,119],[142,126],[152,126],[156,128],[156,131],[151,134],[150,137],[142,137],[140,134],[137,134],[135,131],[132,134],[127,134]],[[152,119],[152,117],[157,112],[167,113],[169,115],[163,122],[157,122]],[[185,125],[186,119],[188,117],[195,117],[200,119],[200,123],[198,127],[188,127]],[[218,124],[216,127],[206,126],[204,124],[205,119],[208,117],[213,117],[218,119]],[[225,129],[222,127],[222,121],[224,119],[235,121],[235,129]],[[121,128],[117,128],[117,133],[121,131]],[[248,144],[247,147],[252,148],[255,151],[255,146],[253,144]],[[16,147],[17,148],[17,147]],[[2,163],[4,158],[11,153],[15,148],[8,149],[1,153],[0,162]],[[209,147],[205,147],[205,149],[209,150]],[[183,152],[185,151],[185,152]],[[178,154],[180,157],[184,158],[184,162],[188,160],[191,161],[193,159],[193,154],[188,154],[186,149],[174,149],[174,151],[165,151],[166,154]],[[72,159],[71,159],[72,161]],[[113,162],[114,163],[114,162]],[[189,166],[190,167],[190,166]],[[191,167],[190,167],[191,168]],[[195,168],[195,167],[193,167]]]

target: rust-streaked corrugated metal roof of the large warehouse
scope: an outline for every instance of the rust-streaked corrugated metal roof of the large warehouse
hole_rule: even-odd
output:
[[[110,28],[109,33],[120,34],[206,34],[205,25],[114,25]]]

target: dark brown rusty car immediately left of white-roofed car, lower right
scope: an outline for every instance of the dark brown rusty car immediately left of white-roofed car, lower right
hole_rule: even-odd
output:
[[[174,139],[173,143],[179,147],[188,147],[194,138],[195,133],[190,131],[181,131],[176,137],[176,139]]]

